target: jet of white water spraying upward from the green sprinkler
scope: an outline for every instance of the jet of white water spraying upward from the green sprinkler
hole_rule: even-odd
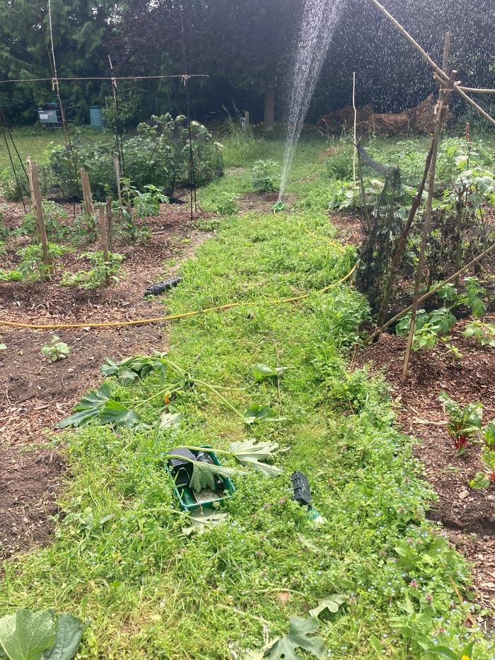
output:
[[[284,196],[296,146],[301,137],[304,120],[308,114],[311,98],[320,77],[335,25],[337,25],[341,6],[342,0],[306,0],[305,2],[292,76],[291,104],[279,202]]]

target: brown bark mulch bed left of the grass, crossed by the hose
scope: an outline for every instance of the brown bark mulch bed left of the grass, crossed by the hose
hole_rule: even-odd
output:
[[[6,221],[13,227],[23,217],[20,205],[8,204]],[[70,217],[70,215],[69,215]],[[152,282],[173,277],[178,265],[194,254],[209,234],[199,231],[187,204],[167,204],[159,216],[146,219],[151,238],[146,244],[117,241],[115,252],[126,255],[120,282],[108,289],[85,291],[52,282],[0,282],[0,319],[21,323],[91,323],[151,318],[166,314],[163,298],[144,299]],[[70,220],[69,220],[70,222]],[[18,249],[18,245],[14,245]],[[98,245],[76,248],[64,256],[59,270],[83,270],[78,253]],[[6,262],[15,263],[13,250]],[[8,267],[5,265],[4,267]],[[69,358],[50,363],[41,348],[52,335],[71,347]],[[30,330],[0,325],[0,560],[30,545],[46,543],[57,512],[57,487],[64,473],[64,457],[47,451],[54,425],[65,417],[81,395],[103,380],[105,357],[116,360],[167,347],[165,324],[121,328]]]

